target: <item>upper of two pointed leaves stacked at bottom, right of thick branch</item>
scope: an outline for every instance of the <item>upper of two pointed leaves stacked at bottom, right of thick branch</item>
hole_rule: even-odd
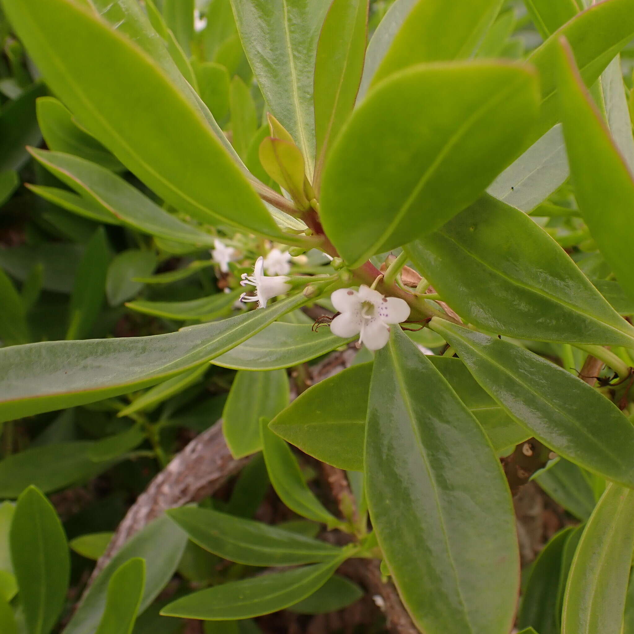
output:
[[[325,541],[209,508],[174,508],[168,514],[198,546],[247,566],[313,564],[341,553]]]

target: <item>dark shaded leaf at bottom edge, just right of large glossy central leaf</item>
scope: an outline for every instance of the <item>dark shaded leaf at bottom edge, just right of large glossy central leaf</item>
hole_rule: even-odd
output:
[[[517,618],[520,628],[533,626],[540,634],[559,634],[557,589],[564,547],[573,531],[572,526],[559,531],[548,541],[531,566]]]

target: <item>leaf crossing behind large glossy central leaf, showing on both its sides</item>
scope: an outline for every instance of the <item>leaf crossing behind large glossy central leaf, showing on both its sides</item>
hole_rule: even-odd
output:
[[[496,451],[529,437],[482,390],[462,362],[441,356],[429,360],[477,418]],[[372,363],[362,363],[320,381],[278,414],[269,429],[322,462],[339,469],[363,470],[371,376]]]

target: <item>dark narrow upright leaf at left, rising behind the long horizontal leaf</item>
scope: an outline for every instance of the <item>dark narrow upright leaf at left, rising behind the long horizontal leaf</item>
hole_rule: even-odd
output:
[[[68,307],[66,339],[85,339],[91,332],[105,297],[110,247],[103,227],[94,232],[79,262]]]

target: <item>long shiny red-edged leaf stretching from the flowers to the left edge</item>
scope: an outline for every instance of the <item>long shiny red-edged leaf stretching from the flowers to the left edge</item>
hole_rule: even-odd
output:
[[[306,302],[295,295],[227,320],[152,337],[0,349],[0,420],[93,403],[160,383],[238,346]]]

